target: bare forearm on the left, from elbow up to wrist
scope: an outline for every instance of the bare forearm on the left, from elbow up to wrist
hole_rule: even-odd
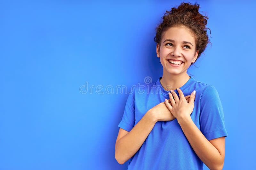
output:
[[[124,164],[140,149],[155,124],[156,120],[149,110],[129,133],[117,141],[115,157],[120,164]]]

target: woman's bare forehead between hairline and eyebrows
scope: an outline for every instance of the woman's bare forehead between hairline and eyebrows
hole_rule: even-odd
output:
[[[165,39],[173,39],[175,42],[189,41],[193,45],[195,44],[195,39],[190,29],[187,27],[171,27],[164,32],[162,37],[162,42]]]

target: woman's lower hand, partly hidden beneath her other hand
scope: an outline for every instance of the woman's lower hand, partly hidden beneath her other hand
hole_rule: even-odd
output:
[[[190,95],[185,96],[185,99],[187,100],[187,102],[189,102],[189,97]],[[172,103],[170,102],[170,99],[168,99],[168,102],[172,105]],[[171,121],[175,119],[175,117],[172,115],[170,110],[166,107],[166,104],[164,102],[157,104],[156,106],[152,107],[149,111],[151,113],[151,116],[154,117],[154,120],[156,120],[156,122]]]

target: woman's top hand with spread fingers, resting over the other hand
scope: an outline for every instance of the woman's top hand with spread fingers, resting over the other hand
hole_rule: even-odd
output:
[[[165,99],[165,105],[170,110],[172,115],[177,118],[177,120],[184,119],[190,117],[190,114],[192,113],[194,109],[194,101],[195,101],[195,94],[193,92],[191,93],[189,97],[189,102],[186,101],[186,98],[184,97],[182,91],[178,89],[178,93],[180,98],[177,96],[175,91],[172,90],[172,93],[169,93],[171,104],[168,102],[167,99]],[[173,96],[173,97],[172,97]]]

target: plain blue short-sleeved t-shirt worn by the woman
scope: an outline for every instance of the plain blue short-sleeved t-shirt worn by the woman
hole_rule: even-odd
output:
[[[131,131],[145,113],[155,105],[169,99],[168,92],[157,81],[132,89],[124,115],[118,127]],[[193,76],[180,87],[184,96],[196,90],[191,118],[208,140],[227,137],[224,114],[217,90],[212,85],[196,81]],[[179,96],[177,89],[174,90]],[[140,149],[129,159],[128,170],[203,169],[203,162],[196,155],[183,133],[177,119],[158,121]]]

